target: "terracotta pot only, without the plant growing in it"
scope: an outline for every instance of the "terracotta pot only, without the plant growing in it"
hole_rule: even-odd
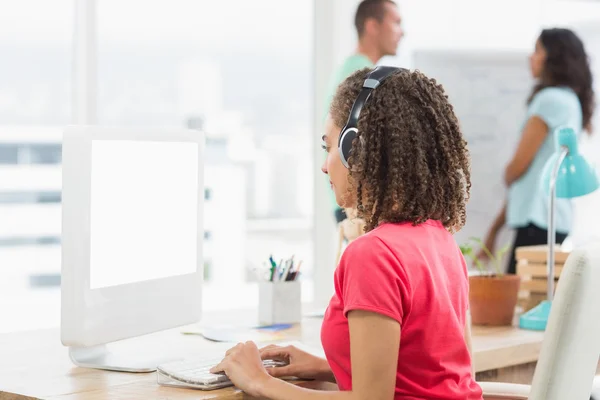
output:
[[[469,277],[472,324],[512,325],[520,284],[518,275]]]

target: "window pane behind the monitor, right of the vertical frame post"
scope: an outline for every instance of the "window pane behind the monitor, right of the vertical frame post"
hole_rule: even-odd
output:
[[[312,3],[98,2],[98,123],[207,135],[207,310],[257,302],[271,254],[312,299]]]

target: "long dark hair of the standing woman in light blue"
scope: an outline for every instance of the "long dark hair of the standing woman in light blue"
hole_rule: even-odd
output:
[[[581,104],[583,128],[591,133],[594,114],[592,71],[583,42],[570,29],[544,29],[539,41],[546,50],[542,76],[529,96],[528,104],[542,89],[551,86],[571,88]]]

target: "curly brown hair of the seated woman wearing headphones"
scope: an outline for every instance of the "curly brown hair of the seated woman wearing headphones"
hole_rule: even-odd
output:
[[[330,108],[346,124],[370,70],[350,75]],[[348,160],[349,191],[368,232],[383,222],[439,220],[450,232],[466,221],[471,189],[467,142],[444,89],[419,71],[396,72],[373,91]],[[352,193],[354,192],[354,193]]]

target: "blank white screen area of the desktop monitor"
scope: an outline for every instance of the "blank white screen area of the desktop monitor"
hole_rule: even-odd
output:
[[[198,145],[92,141],[90,288],[196,272]]]

